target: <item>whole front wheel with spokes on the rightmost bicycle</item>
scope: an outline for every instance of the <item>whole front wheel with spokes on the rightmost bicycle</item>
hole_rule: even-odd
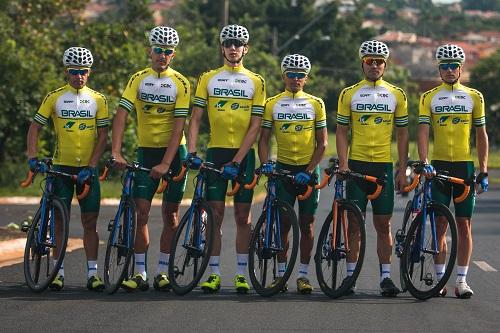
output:
[[[439,234],[439,230],[444,233],[441,242],[436,240],[439,254],[433,250],[434,236],[430,222],[433,216],[436,217],[437,233]],[[438,216],[441,217],[439,220]],[[446,285],[457,254],[457,227],[448,207],[432,201],[427,206],[425,228],[423,218],[421,212],[412,221],[401,256],[403,279],[408,291],[422,300],[435,296]],[[441,279],[438,279],[436,273],[435,260],[445,265]]]

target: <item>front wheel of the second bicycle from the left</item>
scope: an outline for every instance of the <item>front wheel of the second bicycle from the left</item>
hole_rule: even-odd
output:
[[[136,209],[131,198],[120,202],[121,211],[112,223],[106,245],[104,259],[104,285],[108,294],[115,293],[121,283],[131,273],[132,254],[134,253]]]

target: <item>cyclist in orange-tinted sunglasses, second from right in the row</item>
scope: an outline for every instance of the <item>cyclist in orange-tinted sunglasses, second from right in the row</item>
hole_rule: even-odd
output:
[[[345,88],[339,96],[337,113],[337,153],[340,169],[380,177],[388,176],[381,195],[371,200],[373,224],[377,231],[377,254],[380,263],[380,289],[383,296],[396,296],[400,290],[391,279],[391,217],[394,191],[406,185],[405,169],[408,159],[408,111],[406,95],[400,88],[384,81],[382,76],[389,58],[389,48],[382,42],[370,40],[359,48],[361,68],[365,79]],[[391,143],[396,126],[399,172],[392,180]],[[351,128],[351,147],[348,131]],[[349,158],[348,158],[349,150]],[[371,185],[349,181],[347,198],[356,201],[366,212],[367,192]],[[349,253],[347,275],[356,266],[357,253]],[[349,293],[354,292],[354,289]]]

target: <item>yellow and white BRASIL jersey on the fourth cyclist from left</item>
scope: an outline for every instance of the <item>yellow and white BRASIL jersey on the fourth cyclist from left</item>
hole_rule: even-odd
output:
[[[278,144],[278,162],[306,165],[316,148],[316,130],[326,127],[325,104],[303,91],[285,90],[266,101],[262,127],[271,129]]]

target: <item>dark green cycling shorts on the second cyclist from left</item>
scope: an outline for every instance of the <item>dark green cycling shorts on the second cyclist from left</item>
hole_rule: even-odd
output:
[[[155,165],[161,163],[166,150],[167,148],[139,147],[137,149],[137,161],[140,166],[151,169]],[[172,164],[170,165],[170,169],[173,171],[174,175],[179,173],[181,169],[181,162],[186,159],[186,155],[186,146],[180,145],[174,159],[172,160]],[[173,180],[169,181],[167,189],[163,192],[164,202],[181,202],[182,197],[184,196],[184,191],[186,190],[186,175],[177,182],[174,182]],[[155,195],[159,183],[159,179],[153,179],[145,172],[137,172],[133,188],[134,197],[148,201],[153,200],[153,196]]]

